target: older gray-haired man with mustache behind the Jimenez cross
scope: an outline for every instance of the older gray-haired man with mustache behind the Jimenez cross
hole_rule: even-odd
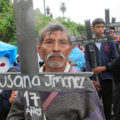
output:
[[[61,24],[52,23],[46,26],[40,33],[37,48],[45,63],[40,68],[40,72],[76,72],[67,62],[72,42],[67,30]],[[44,118],[47,120],[104,120],[102,105],[92,82],[89,87],[92,91],[41,92]],[[7,120],[27,120],[28,103],[24,101],[22,92],[18,93]],[[36,101],[34,103],[37,104]]]

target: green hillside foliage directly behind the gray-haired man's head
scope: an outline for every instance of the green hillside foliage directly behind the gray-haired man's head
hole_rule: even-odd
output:
[[[62,23],[68,30],[68,32],[73,35],[73,30],[75,31],[76,35],[82,34],[85,35],[85,26],[82,24],[77,24],[73,21],[71,21],[69,18],[62,18],[58,17],[56,19],[53,19],[51,17],[46,17],[44,15],[37,16],[35,15],[35,26],[36,26],[36,37],[38,37],[39,31],[47,25],[49,22],[60,22]]]

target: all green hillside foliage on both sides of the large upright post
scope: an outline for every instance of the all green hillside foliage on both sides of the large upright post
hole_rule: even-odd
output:
[[[62,23],[73,35],[73,30],[76,35],[85,35],[85,26],[71,21],[69,18],[58,17],[53,19],[42,15],[40,11],[35,10],[35,35],[38,37],[39,31],[50,21],[58,21]],[[0,39],[4,42],[17,45],[16,27],[14,18],[14,9],[10,0],[0,0]]]

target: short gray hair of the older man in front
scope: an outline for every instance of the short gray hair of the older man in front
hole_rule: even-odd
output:
[[[69,44],[72,44],[72,40],[67,29],[61,23],[58,23],[58,22],[54,22],[54,23],[51,22],[40,31],[39,37],[38,37],[38,44],[42,44],[44,35],[46,32],[50,32],[51,34],[51,32],[58,31],[58,30],[62,31],[63,33],[66,33],[68,36]]]

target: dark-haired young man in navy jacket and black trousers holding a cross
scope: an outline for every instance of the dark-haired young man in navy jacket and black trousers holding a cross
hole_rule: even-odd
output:
[[[103,37],[105,32],[104,20],[102,18],[96,18],[92,22],[92,30],[94,38]],[[99,96],[102,97],[106,120],[111,120],[113,76],[110,71],[110,66],[112,61],[118,56],[118,51],[113,42],[94,43],[94,45],[97,67],[91,67],[89,44],[87,44],[85,46],[86,70],[93,71],[94,74],[98,75],[100,83],[95,80],[94,76],[91,79],[98,90]]]

